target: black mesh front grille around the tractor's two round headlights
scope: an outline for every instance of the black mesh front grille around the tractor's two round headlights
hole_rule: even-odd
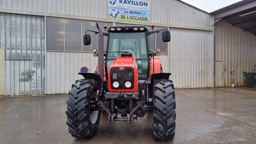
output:
[[[129,76],[129,73],[132,73],[132,76]],[[117,79],[113,79],[113,74],[117,74]],[[113,87],[114,81],[119,83],[119,87]],[[130,88],[125,87],[125,82],[130,81],[132,86]],[[119,68],[111,68],[110,71],[110,82],[112,89],[133,89],[134,85],[134,73],[133,68],[125,68],[124,71],[119,71]]]

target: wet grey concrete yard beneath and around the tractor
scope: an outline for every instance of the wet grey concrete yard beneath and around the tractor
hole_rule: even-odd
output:
[[[252,89],[254,90],[254,89]],[[97,135],[68,133],[68,95],[0,98],[0,143],[256,143],[256,94],[228,88],[176,90],[173,141],[155,141],[152,113],[133,124],[108,124]]]

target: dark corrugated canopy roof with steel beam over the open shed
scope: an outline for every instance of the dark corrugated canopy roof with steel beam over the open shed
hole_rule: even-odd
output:
[[[215,16],[215,23],[224,20],[256,35],[256,0],[243,0],[210,14]]]

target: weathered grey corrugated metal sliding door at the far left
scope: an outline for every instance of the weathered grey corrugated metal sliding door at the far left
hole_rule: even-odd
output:
[[[0,46],[5,48],[5,79],[6,95],[25,95],[21,86],[24,82],[24,73],[19,72],[21,68],[29,68],[31,76],[31,93],[29,95],[44,94],[45,75],[45,40],[44,40],[44,17],[36,15],[0,13],[1,35]],[[27,61],[31,67],[27,66]],[[15,79],[14,75],[15,74]],[[15,89],[15,90],[14,90]],[[16,90],[20,90],[19,92]],[[10,93],[16,91],[15,93]]]

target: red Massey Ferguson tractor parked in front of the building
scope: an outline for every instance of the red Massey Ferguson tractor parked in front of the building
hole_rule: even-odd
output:
[[[176,105],[170,73],[163,73],[159,56],[150,51],[149,36],[162,32],[164,42],[170,41],[167,29],[149,32],[146,26],[111,26],[105,33],[97,24],[98,66],[95,73],[79,73],[84,79],[76,80],[67,100],[68,131],[75,138],[91,138],[97,133],[101,114],[109,123],[133,123],[153,111],[153,136],[172,140],[175,135]],[[83,37],[90,45],[91,37]],[[104,52],[104,36],[108,37]],[[105,58],[104,58],[105,57]]]

